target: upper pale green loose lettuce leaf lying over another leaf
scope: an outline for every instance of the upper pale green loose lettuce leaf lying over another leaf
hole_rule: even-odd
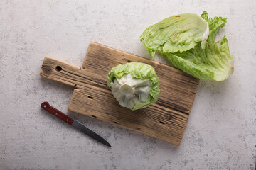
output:
[[[204,48],[208,35],[208,23],[203,18],[193,13],[183,13],[149,26],[140,38],[151,57],[154,57],[159,47],[163,52],[183,52],[201,42]]]

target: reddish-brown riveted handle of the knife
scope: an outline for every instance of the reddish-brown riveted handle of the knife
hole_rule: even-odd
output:
[[[57,118],[60,118],[65,123],[68,123],[69,125],[72,125],[72,123],[74,121],[68,115],[65,115],[64,113],[62,113],[58,109],[53,108],[53,106],[50,106],[50,104],[47,101],[41,103],[41,108],[43,108],[44,110],[48,111],[49,113],[55,115]]]

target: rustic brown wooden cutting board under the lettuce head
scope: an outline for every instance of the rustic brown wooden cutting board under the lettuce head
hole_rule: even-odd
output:
[[[161,92],[156,103],[131,111],[119,106],[107,86],[117,64],[144,62],[156,69]],[[68,110],[141,132],[174,145],[181,143],[199,79],[178,69],[90,42],[82,67],[46,57],[41,76],[74,86]]]

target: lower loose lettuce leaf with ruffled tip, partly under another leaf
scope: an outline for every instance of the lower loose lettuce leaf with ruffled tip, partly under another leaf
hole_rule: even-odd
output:
[[[215,37],[220,28],[225,26],[227,19],[222,17],[208,18],[206,11],[201,17],[208,22],[210,30],[206,40],[206,48],[203,49],[198,43],[191,50],[183,52],[166,52],[162,47],[158,47],[157,52],[174,67],[198,79],[223,81],[234,71],[233,55],[230,55],[227,38],[224,36],[215,42]]]

